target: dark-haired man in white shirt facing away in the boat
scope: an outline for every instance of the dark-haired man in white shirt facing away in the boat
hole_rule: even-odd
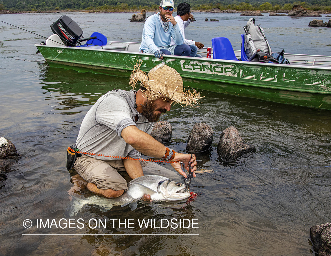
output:
[[[177,16],[175,17],[175,21],[177,22],[177,25],[180,28],[180,31],[182,32],[183,38],[184,38],[184,44],[187,44],[191,48],[191,57],[199,57],[202,58],[200,54],[197,54],[198,48],[202,49],[204,47],[204,44],[193,41],[193,40],[187,40],[185,39],[185,28],[190,25],[191,20],[193,19],[193,15],[191,14],[191,5],[184,2],[180,3],[177,6]],[[175,42],[171,38],[171,45],[174,45]]]

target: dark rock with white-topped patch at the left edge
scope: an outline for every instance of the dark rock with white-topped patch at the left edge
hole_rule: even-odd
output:
[[[11,165],[16,162],[19,154],[13,142],[4,137],[0,138],[0,171],[6,171]]]

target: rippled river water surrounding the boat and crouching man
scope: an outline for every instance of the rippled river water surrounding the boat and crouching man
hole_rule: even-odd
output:
[[[61,15],[6,14],[0,20],[48,37],[50,25]],[[141,40],[143,24],[130,23],[132,13],[66,15],[85,37],[99,31],[109,40]],[[211,46],[213,37],[225,36],[240,48],[242,26],[250,17],[194,16],[197,21],[186,29],[186,38]],[[331,55],[330,28],[308,27],[312,19],[256,17],[274,52]],[[74,144],[88,109],[113,88],[129,89],[128,78],[49,67],[35,54],[34,44],[44,38],[3,23],[0,38],[0,136],[11,140],[21,155],[0,181],[0,255],[313,255],[309,229],[331,218],[330,111],[203,92],[199,108],[175,105],[161,118],[171,123],[169,147],[179,152],[185,152],[194,124],[213,128],[211,150],[197,156],[197,169],[204,173],[192,181],[191,190],[201,193],[196,200],[139,202],[133,212],[129,207],[105,212],[86,206],[68,217],[74,173],[65,168],[66,149]],[[216,148],[229,126],[238,128],[256,153],[225,164]],[[74,198],[90,195],[82,189]],[[62,218],[62,227],[73,219],[71,229],[59,227]],[[173,218],[198,219],[198,229],[157,229],[161,219]],[[23,226],[26,219],[32,221],[29,229]],[[37,219],[57,224],[37,228]],[[93,219],[106,220],[106,228],[94,227]],[[133,219],[133,229],[119,228],[116,221],[113,226],[111,219]],[[155,219],[156,226],[140,228],[138,219]],[[142,233],[154,235],[132,235]]]

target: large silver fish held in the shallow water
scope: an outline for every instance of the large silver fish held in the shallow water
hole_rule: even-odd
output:
[[[75,215],[86,204],[95,205],[105,211],[115,205],[121,205],[121,207],[129,205],[133,211],[137,208],[137,201],[145,194],[150,195],[153,201],[177,201],[191,195],[186,191],[185,184],[158,175],[146,175],[133,179],[127,183],[127,186],[128,189],[117,198],[95,195],[75,201],[71,207],[71,215]]]

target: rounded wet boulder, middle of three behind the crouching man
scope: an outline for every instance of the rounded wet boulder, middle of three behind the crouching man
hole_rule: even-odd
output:
[[[208,150],[213,142],[213,133],[214,131],[209,125],[195,124],[187,139],[186,151],[196,153]]]

